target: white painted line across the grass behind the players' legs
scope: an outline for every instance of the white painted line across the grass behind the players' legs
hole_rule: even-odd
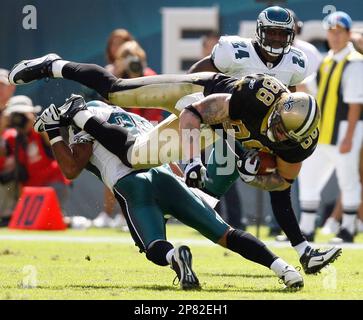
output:
[[[89,237],[77,237],[77,236],[58,236],[58,235],[40,235],[40,234],[27,234],[27,235],[15,235],[6,234],[0,235],[0,245],[1,240],[10,241],[48,241],[48,242],[65,242],[65,243],[111,243],[111,244],[133,244],[131,237],[99,237],[99,236],[89,236]],[[214,245],[208,239],[181,239],[181,238],[169,238],[174,244],[183,243],[195,246],[211,246]],[[276,242],[276,241],[264,241],[264,243],[271,248],[288,248],[290,247],[289,242]],[[315,247],[318,246],[331,246],[328,243],[315,243]],[[346,249],[363,249],[363,243],[344,243],[339,245],[339,247]]]

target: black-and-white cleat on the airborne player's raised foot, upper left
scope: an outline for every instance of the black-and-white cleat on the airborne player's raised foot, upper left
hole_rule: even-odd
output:
[[[52,63],[62,58],[55,53],[43,57],[23,60],[16,64],[9,73],[11,84],[25,84],[43,78],[52,78]]]

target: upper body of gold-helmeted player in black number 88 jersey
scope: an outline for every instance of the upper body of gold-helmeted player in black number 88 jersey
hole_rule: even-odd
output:
[[[224,89],[220,90],[222,87]],[[271,175],[256,176],[250,174],[247,167],[237,165],[242,179],[265,190],[286,189],[318,141],[320,111],[315,99],[301,92],[290,93],[277,79],[262,74],[241,80],[216,74],[206,84],[204,94],[205,99],[182,111],[180,129],[199,129],[201,123],[224,130],[233,128],[242,146],[253,145],[255,149],[267,149],[277,156],[278,170]],[[194,135],[193,139],[193,143],[198,143],[198,136]],[[195,157],[199,154],[191,156]],[[187,179],[193,171],[186,172]]]

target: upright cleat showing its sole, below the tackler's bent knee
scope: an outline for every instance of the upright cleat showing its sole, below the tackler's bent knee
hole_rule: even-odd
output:
[[[175,248],[171,268],[177,274],[181,289],[200,289],[199,280],[192,269],[192,253],[187,246]]]

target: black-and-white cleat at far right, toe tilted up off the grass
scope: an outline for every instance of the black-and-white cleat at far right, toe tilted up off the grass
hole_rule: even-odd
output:
[[[300,263],[306,274],[316,274],[325,266],[333,263],[342,254],[341,248],[330,248],[325,251],[307,247],[300,258]]]

